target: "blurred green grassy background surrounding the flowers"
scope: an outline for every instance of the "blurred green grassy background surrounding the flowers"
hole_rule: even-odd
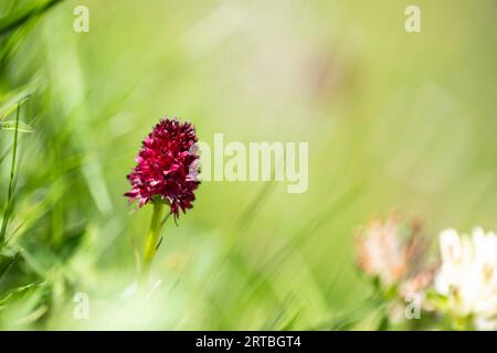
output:
[[[50,2],[0,1],[0,107],[31,94],[20,120],[33,129],[19,132],[1,329],[369,329],[357,225],[398,210],[433,238],[497,228],[496,1],[87,0],[42,11]],[[78,4],[88,33],[73,30]],[[421,33],[404,30],[409,4]],[[142,303],[130,292],[151,210],[130,214],[123,194],[165,115],[210,143],[214,132],[308,141],[309,188],[201,184],[193,210],[166,225],[160,282]],[[0,130],[3,218],[13,138]],[[74,317],[76,292],[88,295],[88,320]]]

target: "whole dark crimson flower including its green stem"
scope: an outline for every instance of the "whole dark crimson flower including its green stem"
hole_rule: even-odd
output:
[[[149,282],[150,265],[167,217],[172,215],[177,223],[180,211],[186,213],[193,207],[194,191],[200,184],[194,168],[200,158],[197,141],[195,129],[190,122],[165,117],[142,141],[137,164],[127,175],[131,190],[125,196],[129,197],[129,203],[138,201],[138,208],[154,205],[139,270],[141,289]],[[166,208],[169,213],[165,217]]]

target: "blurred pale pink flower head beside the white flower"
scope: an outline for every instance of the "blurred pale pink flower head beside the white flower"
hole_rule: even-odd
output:
[[[417,271],[425,244],[419,222],[398,216],[373,220],[357,236],[359,267],[384,287],[400,284]]]

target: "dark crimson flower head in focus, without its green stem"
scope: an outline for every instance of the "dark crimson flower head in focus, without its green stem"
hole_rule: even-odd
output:
[[[138,207],[149,202],[168,202],[177,217],[191,208],[193,191],[200,182],[190,174],[199,154],[194,148],[195,130],[189,122],[163,118],[144,140],[137,165],[127,175],[131,190],[125,196],[139,200]]]

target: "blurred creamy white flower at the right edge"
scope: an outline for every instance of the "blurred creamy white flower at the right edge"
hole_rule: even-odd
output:
[[[496,234],[476,228],[469,237],[446,229],[440,235],[440,248],[435,291],[446,297],[446,310],[472,318],[478,330],[497,330]]]

